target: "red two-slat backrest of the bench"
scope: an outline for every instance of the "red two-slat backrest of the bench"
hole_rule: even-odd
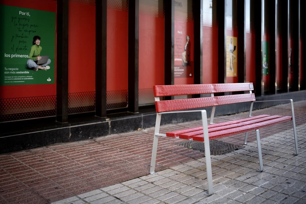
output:
[[[188,84],[188,85],[159,85],[154,86],[156,112],[202,108],[230,103],[255,101],[252,94],[253,83],[216,83],[216,84]],[[177,100],[159,101],[162,96],[214,94],[220,92],[250,91],[249,94],[236,94],[225,96],[211,96],[205,98],[187,98]]]

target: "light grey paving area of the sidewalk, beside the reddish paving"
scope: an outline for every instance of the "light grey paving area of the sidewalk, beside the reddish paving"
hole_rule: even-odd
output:
[[[51,204],[118,203],[306,203],[306,124],[297,127],[304,145],[293,156],[291,130],[261,140],[264,171],[257,172],[257,144],[212,156],[215,193],[206,196],[205,158]],[[301,143],[301,142],[300,142]],[[273,150],[272,150],[273,149]]]

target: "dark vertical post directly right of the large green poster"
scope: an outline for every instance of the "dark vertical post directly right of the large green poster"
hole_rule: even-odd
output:
[[[57,1],[56,120],[68,121],[68,0]]]

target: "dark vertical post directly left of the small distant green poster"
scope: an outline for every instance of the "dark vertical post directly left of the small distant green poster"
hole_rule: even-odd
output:
[[[255,0],[251,0],[255,1]],[[255,94],[263,95],[263,65],[262,65],[262,46],[263,46],[263,29],[262,29],[262,0],[256,0],[254,3],[254,28],[255,28]]]

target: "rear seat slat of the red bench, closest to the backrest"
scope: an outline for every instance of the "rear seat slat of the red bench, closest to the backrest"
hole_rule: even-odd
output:
[[[235,123],[249,121],[249,120],[253,120],[253,119],[256,119],[256,118],[262,118],[262,117],[267,117],[267,116],[269,116],[269,115],[258,115],[258,116],[247,117],[247,118],[243,118],[243,119],[239,119],[239,120],[235,120],[235,121],[227,121],[227,122],[222,122],[222,123],[209,124],[208,128],[220,127],[222,125],[227,125],[227,124],[235,124]],[[167,132],[166,135],[167,135],[167,137],[178,137],[179,134],[184,134],[184,133],[198,131],[198,130],[202,130],[202,133],[203,133],[203,126],[199,126],[199,127],[195,127],[195,128],[188,128],[188,129],[184,129],[184,130]]]

